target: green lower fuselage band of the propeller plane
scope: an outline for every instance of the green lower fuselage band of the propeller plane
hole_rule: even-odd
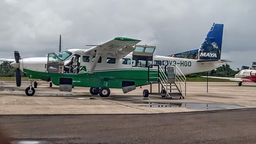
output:
[[[156,70],[150,70],[156,72]],[[51,78],[55,85],[60,85],[60,78],[72,78],[72,86],[81,87],[102,87],[104,86],[103,79],[108,78],[109,88],[122,88],[122,81],[133,81],[135,86],[143,86],[148,83],[148,69],[116,69],[116,70],[101,70],[95,71],[93,74],[88,72],[79,74],[70,73],[47,73],[36,72],[24,69],[24,72],[32,78]],[[157,74],[151,74],[150,77],[157,77]],[[150,81],[157,81],[153,78]]]

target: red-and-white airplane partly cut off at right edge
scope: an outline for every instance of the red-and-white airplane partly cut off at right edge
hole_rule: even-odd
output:
[[[206,78],[207,76],[201,76],[201,77]],[[256,82],[256,70],[240,70],[240,72],[238,72],[238,74],[236,74],[234,78],[216,77],[216,76],[208,76],[208,78],[234,80],[238,82],[238,86],[242,86],[242,82]]]

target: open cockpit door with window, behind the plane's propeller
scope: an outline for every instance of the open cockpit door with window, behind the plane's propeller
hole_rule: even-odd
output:
[[[49,73],[63,73],[64,62],[54,53],[48,54],[47,71]]]

